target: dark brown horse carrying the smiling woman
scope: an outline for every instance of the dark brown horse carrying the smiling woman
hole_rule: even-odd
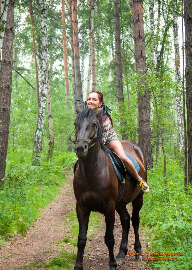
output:
[[[115,270],[117,264],[125,262],[127,242],[130,227],[130,215],[126,205],[133,204],[132,225],[135,234],[134,249],[141,253],[139,240],[139,211],[143,204],[143,194],[137,191],[137,183],[133,179],[126,181],[121,200],[115,206],[121,182],[113,168],[112,162],[106,154],[105,147],[101,146],[101,127],[98,117],[102,110],[93,111],[86,108],[75,119],[74,151],[79,158],[79,163],[74,174],[74,194],[77,200],[76,211],[79,221],[78,252],[75,270],[83,269],[83,254],[86,245],[86,235],[91,211],[104,214],[106,222],[105,243],[109,250],[110,270]],[[137,143],[121,141],[125,151],[129,152],[140,166],[139,175],[147,181],[146,158],[143,150]],[[115,210],[118,212],[122,224],[122,240],[119,253],[114,258],[113,228]],[[139,259],[140,256],[136,256]]]

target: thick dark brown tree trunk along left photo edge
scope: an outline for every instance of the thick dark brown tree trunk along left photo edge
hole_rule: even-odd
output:
[[[0,181],[5,174],[8,147],[13,68],[13,27],[14,0],[9,0],[2,47],[2,68],[0,73]]]

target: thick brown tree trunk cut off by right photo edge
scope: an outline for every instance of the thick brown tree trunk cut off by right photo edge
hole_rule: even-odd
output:
[[[187,106],[187,137],[188,137],[188,177],[192,183],[192,3],[184,0],[185,20],[185,84]]]

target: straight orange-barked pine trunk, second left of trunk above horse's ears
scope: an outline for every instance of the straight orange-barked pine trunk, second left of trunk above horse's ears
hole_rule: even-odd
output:
[[[66,40],[66,24],[65,24],[65,0],[61,0],[62,9],[62,23],[63,23],[63,62],[65,75],[65,102],[67,110],[69,110],[69,75],[68,75],[68,61],[67,61],[67,40]]]

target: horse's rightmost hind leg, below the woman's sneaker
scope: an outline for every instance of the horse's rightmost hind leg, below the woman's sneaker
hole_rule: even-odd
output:
[[[136,253],[141,253],[141,243],[139,240],[139,211],[143,205],[143,194],[139,194],[134,201],[133,204],[133,213],[131,217],[133,229],[134,229],[134,235],[135,235],[135,243],[134,243],[134,249]],[[135,256],[136,260],[139,260],[142,256],[140,254]]]

